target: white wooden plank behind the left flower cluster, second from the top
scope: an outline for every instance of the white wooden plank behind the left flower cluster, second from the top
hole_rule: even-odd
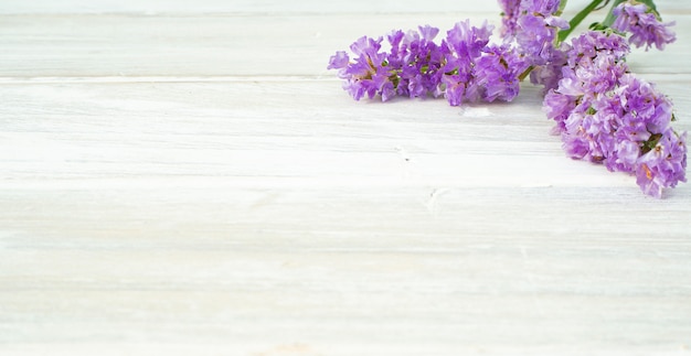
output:
[[[487,17],[469,18],[481,23]],[[673,17],[681,36],[691,33],[687,18]],[[454,13],[6,15],[0,18],[0,77],[333,76],[326,69],[329,57],[362,35],[425,23],[446,30],[458,20]],[[638,73],[688,74],[689,46],[679,41],[665,52],[637,51],[630,63]]]

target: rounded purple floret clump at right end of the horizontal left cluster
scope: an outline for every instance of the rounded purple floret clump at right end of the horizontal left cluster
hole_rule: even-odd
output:
[[[474,76],[485,101],[511,101],[520,90],[519,76],[528,68],[527,61],[508,45],[490,45],[476,61]]]

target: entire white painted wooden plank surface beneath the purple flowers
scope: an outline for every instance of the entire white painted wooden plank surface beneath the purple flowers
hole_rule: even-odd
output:
[[[629,62],[689,130],[691,6],[659,8],[679,42]],[[690,355],[688,184],[564,158],[530,86],[355,103],[325,69],[496,12],[3,1],[0,355]]]

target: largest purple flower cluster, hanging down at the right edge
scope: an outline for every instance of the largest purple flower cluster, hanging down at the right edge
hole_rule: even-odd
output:
[[[685,132],[671,128],[671,101],[630,73],[627,53],[617,34],[574,39],[563,78],[543,107],[568,155],[636,174],[646,194],[660,197],[663,187],[685,182]]]

